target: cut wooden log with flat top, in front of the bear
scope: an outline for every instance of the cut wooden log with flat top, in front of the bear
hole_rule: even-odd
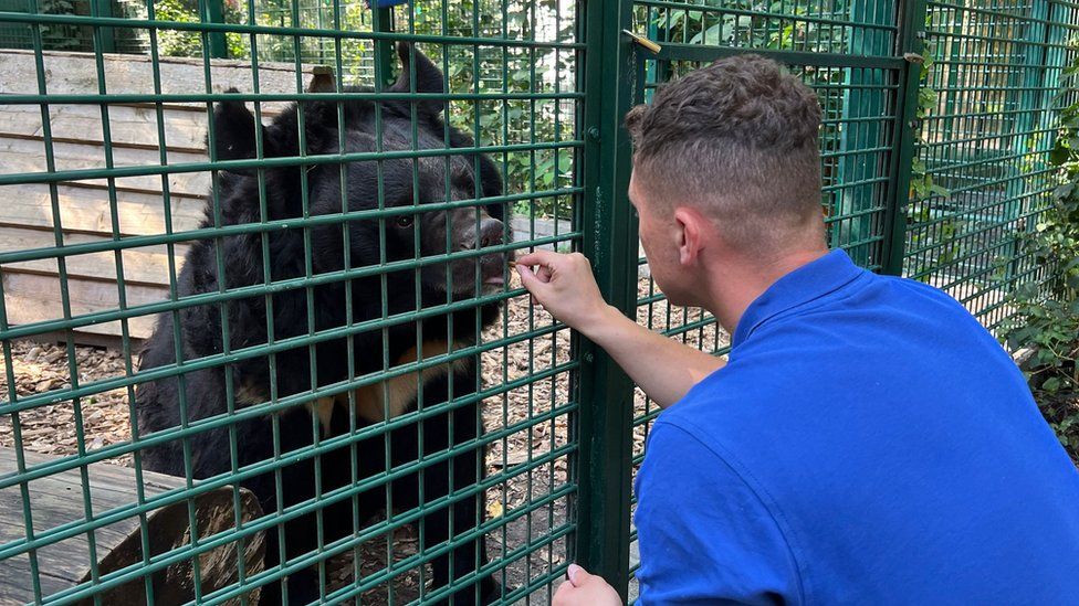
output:
[[[25,453],[28,466],[41,465],[56,457]],[[0,448],[0,477],[18,472],[15,451]],[[105,463],[86,467],[88,503],[93,515],[99,517],[119,507],[136,503],[135,470]],[[146,498],[186,486],[184,478],[153,471],[143,471],[143,490]],[[87,503],[83,499],[83,479],[80,470],[64,471],[27,482],[33,531],[44,532],[66,523],[86,519]],[[235,529],[239,515],[241,524],[262,515],[258,499],[241,488],[234,499],[231,487],[207,492],[193,501],[196,533],[205,541],[218,533]],[[239,508],[239,512],[235,509]],[[0,490],[0,544],[25,538],[21,487]],[[181,501],[156,509],[146,514],[149,555],[157,556],[190,544],[188,502]],[[105,575],[144,561],[142,524],[137,515],[125,518],[93,532],[97,555],[97,573]],[[199,555],[201,592],[207,594],[237,582],[238,559],[242,553],[244,572],[256,574],[264,566],[265,536],[258,532],[242,541],[229,541]],[[90,533],[78,534],[35,551],[38,581],[42,597],[70,589],[77,585],[93,584],[91,574]],[[151,575],[154,604],[184,604],[195,598],[195,577],[191,560],[186,560]],[[247,595],[258,603],[259,591]],[[0,605],[25,604],[34,600],[30,557],[22,554],[0,561]],[[102,604],[146,604],[143,577],[129,581],[101,594]],[[228,604],[239,604],[239,599]],[[80,604],[93,604],[84,599]]]

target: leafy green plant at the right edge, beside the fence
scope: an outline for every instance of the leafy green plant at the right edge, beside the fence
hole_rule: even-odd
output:
[[[1079,62],[1069,79],[1077,72]],[[1044,280],[1013,295],[1017,312],[1004,339],[1012,350],[1026,350],[1020,368],[1043,413],[1061,443],[1079,453],[1079,104],[1061,113],[1050,162],[1060,169],[1060,185],[1023,236]]]

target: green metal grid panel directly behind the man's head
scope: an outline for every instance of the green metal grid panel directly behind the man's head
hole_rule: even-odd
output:
[[[910,9],[908,9],[909,11]],[[740,52],[758,52],[786,64],[818,95],[824,110],[820,134],[823,209],[829,242],[859,264],[884,270],[891,253],[894,208],[905,187],[897,170],[909,110],[908,62],[901,40],[899,7],[890,2],[633,2],[632,30],[661,45],[658,55],[635,51],[642,63],[636,102],[650,98],[656,83],[692,71],[708,61]],[[620,113],[621,108],[619,108]],[[640,268],[632,309],[640,323],[691,347],[725,355],[730,336],[704,310],[671,306],[648,274],[637,247],[629,252]],[[660,408],[638,389],[631,422],[632,472],[643,460],[645,444]],[[636,508],[636,497],[631,497]],[[628,573],[639,554],[636,531]],[[628,596],[637,593],[628,583]]]

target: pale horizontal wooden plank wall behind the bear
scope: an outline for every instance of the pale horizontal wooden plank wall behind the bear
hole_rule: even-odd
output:
[[[148,56],[104,55],[101,65],[93,53],[46,52],[43,55],[45,91],[49,94],[149,95],[154,93],[154,72]],[[98,70],[104,82],[98,81]],[[163,94],[192,94],[207,91],[201,60],[166,57],[159,62]],[[312,78],[304,67],[302,86]],[[250,63],[213,60],[210,89],[234,87],[252,91]],[[42,173],[46,171],[42,109],[36,105],[4,104],[3,95],[36,94],[39,82],[34,55],[30,51],[0,51],[0,173]],[[262,93],[294,93],[297,89],[293,64],[259,65]],[[262,104],[264,117],[272,117],[284,104]],[[99,105],[50,104],[48,125],[56,170],[92,169],[106,166],[103,115]],[[159,166],[199,162],[205,151],[206,104],[165,104],[164,143],[158,115],[153,104],[132,103],[108,106],[108,130],[113,166]],[[102,242],[115,236],[166,233],[163,191],[168,185],[171,230],[182,232],[198,226],[209,190],[209,173],[190,172],[128,177],[115,180],[115,214],[104,179],[65,181],[57,184],[60,225],[65,245]],[[55,246],[56,217],[46,184],[0,187],[0,252]],[[177,268],[186,246],[175,246]],[[168,298],[168,253],[165,246],[130,248],[121,253],[128,306]],[[72,316],[117,309],[116,254],[98,253],[66,257],[67,289]],[[59,266],[55,258],[8,264],[0,267],[8,322],[24,325],[62,319]],[[154,326],[153,317],[129,321],[130,336],[144,339]],[[78,329],[76,342],[101,343],[121,334],[119,322]]]

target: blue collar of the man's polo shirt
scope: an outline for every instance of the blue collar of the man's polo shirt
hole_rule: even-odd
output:
[[[798,267],[750,304],[734,330],[731,347],[738,347],[771,318],[834,293],[865,273],[841,248]]]

